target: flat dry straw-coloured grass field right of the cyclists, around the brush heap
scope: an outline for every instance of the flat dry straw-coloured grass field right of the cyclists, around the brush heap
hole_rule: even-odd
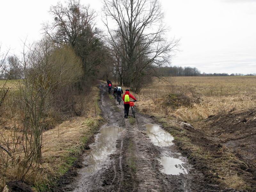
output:
[[[232,108],[255,107],[255,92],[256,77],[170,77],[165,82],[155,81],[143,88],[137,97],[138,108],[142,112],[195,122]],[[200,98],[201,102],[178,108],[166,106],[164,101],[170,93]]]

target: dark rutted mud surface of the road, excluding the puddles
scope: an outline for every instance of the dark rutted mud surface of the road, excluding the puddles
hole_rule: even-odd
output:
[[[111,154],[105,155],[104,162],[98,166],[98,170],[89,173],[84,172],[85,168],[90,166],[86,164],[90,150],[86,151],[83,155],[84,167],[77,170],[78,174],[72,179],[73,182],[62,186],[59,191],[219,191],[208,189],[202,185],[204,176],[193,169],[184,157],[180,156],[174,145],[159,147],[152,143],[144,132],[145,124],[154,124],[152,118],[136,114],[136,122],[131,124],[129,118],[133,117],[129,116],[128,119],[123,117],[123,105],[118,105],[116,101],[110,100],[107,88],[102,84],[100,90],[100,108],[103,117],[107,120],[101,131],[108,132],[111,126],[123,129],[114,140],[111,140],[115,150]],[[96,144],[97,137],[100,137],[100,134],[96,135]],[[92,148],[95,146],[97,147],[92,144]],[[163,166],[159,159],[163,152],[176,158],[182,158],[185,162],[184,167],[188,168],[189,173],[167,175],[161,172]]]

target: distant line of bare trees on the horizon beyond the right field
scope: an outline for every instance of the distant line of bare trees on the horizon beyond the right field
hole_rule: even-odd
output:
[[[160,67],[156,69],[160,76],[256,76],[256,74],[241,74],[241,73],[201,73],[198,68],[193,67]]]

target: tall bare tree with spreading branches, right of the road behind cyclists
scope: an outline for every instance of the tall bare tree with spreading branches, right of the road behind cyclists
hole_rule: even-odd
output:
[[[123,83],[137,87],[134,91],[139,92],[142,79],[156,76],[154,69],[169,62],[179,41],[166,41],[164,34],[168,30],[158,0],[104,0],[104,13],[111,46],[127,68],[127,81]],[[110,28],[109,19],[118,28]]]

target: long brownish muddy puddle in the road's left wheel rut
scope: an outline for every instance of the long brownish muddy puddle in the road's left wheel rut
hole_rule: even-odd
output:
[[[103,127],[100,133],[96,136],[96,141],[90,146],[91,152],[87,156],[82,172],[91,173],[101,168],[101,165],[106,162],[106,157],[113,153],[116,149],[116,138],[119,132],[123,131],[120,127]]]

